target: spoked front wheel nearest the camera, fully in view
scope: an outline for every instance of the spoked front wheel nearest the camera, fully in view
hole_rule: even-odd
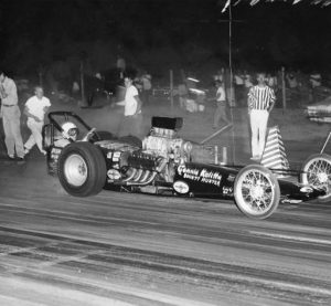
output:
[[[243,168],[234,183],[237,208],[253,219],[266,219],[279,204],[280,189],[273,172],[258,165]]]

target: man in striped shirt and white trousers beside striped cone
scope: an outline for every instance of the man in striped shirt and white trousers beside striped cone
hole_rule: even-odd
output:
[[[259,160],[263,156],[266,143],[266,131],[269,113],[275,105],[274,89],[266,85],[266,74],[257,74],[257,85],[248,93],[248,114],[252,130],[252,158]]]

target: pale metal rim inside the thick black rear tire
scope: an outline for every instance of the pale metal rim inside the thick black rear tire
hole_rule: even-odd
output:
[[[75,187],[83,186],[87,180],[87,166],[79,155],[71,155],[64,163],[66,181]]]

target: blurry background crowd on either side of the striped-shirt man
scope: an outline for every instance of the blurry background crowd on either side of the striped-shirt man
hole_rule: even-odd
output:
[[[257,84],[256,75],[257,72],[245,70],[231,72],[228,68],[221,68],[210,77],[210,84],[204,87],[207,88],[211,87],[212,83],[216,85],[216,82],[221,82],[228,106],[247,107],[247,94]],[[178,95],[180,107],[185,108],[188,101],[190,104],[192,96],[197,104],[207,99],[206,91],[201,91],[201,94],[196,91],[196,87],[199,88],[197,84],[197,80],[194,82],[192,77],[183,78],[183,82],[179,84],[175,94]],[[276,106],[278,107],[281,107],[284,103],[286,103],[287,107],[303,107],[331,95],[331,83],[328,75],[322,75],[318,72],[307,74],[300,71],[279,70],[266,73],[266,84],[274,89],[277,98]],[[212,96],[214,95],[214,92],[210,91],[210,88],[209,92],[213,93]],[[284,102],[284,99],[286,101]]]

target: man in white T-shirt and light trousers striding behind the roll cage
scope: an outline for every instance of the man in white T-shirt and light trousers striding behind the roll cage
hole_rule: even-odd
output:
[[[34,88],[34,96],[25,103],[24,114],[28,116],[28,127],[31,129],[31,136],[24,145],[24,154],[36,144],[41,154],[46,155],[42,146],[42,128],[44,125],[44,116],[51,106],[49,98],[44,97],[44,91],[41,86]]]

